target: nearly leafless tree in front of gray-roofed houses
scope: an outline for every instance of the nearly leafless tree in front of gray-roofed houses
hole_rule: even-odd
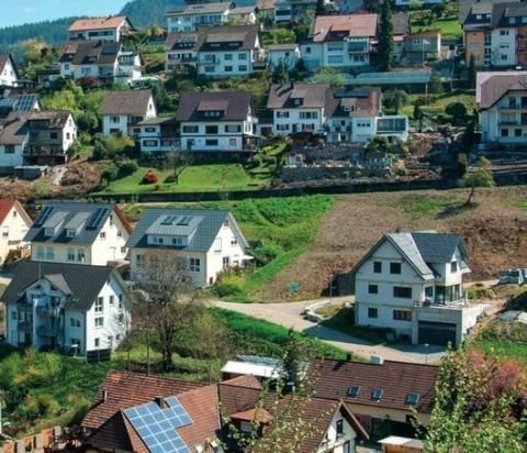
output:
[[[172,365],[177,332],[191,325],[199,302],[192,291],[186,258],[173,256],[170,250],[158,248],[145,254],[143,259],[139,288],[144,290],[146,301],[141,303],[141,319],[145,322],[148,339],[153,330],[155,332],[155,343],[161,353],[161,369],[166,372]]]

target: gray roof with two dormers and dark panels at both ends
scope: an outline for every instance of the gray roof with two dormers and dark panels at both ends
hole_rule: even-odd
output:
[[[92,244],[101,226],[114,210],[114,205],[45,201],[24,241]],[[46,236],[44,233],[46,228],[54,229],[54,234]],[[76,230],[75,237],[67,236],[66,230],[69,229]]]

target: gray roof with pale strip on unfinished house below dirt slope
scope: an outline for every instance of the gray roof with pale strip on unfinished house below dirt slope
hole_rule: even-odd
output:
[[[437,231],[390,233],[382,236],[370,248],[355,265],[351,273],[356,273],[385,241],[389,241],[401,253],[423,279],[435,277],[435,272],[429,264],[450,263],[458,248],[463,261],[468,262],[463,239],[459,234],[438,233]]]

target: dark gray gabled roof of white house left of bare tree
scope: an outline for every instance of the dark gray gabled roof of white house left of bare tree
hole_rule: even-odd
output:
[[[117,272],[110,266],[88,266],[83,264],[71,266],[65,263],[24,261],[14,267],[13,278],[1,296],[1,300],[4,303],[15,303],[21,300],[29,286],[41,278],[46,278],[52,285],[69,296],[66,301],[67,308],[88,310],[112,274],[121,281]],[[125,286],[122,286],[125,290]]]

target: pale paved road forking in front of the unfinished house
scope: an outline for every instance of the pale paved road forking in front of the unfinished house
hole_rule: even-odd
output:
[[[349,299],[349,297],[335,298],[334,302],[343,302]],[[385,346],[371,344],[356,336],[347,335],[343,332],[305,320],[301,314],[302,311],[305,307],[319,300],[285,303],[235,303],[216,300],[212,303],[215,307],[265,319],[266,321],[274,322],[288,329],[293,328],[295,331],[316,336],[343,351],[354,352],[365,357],[381,355],[382,357],[392,361],[437,363],[445,353],[444,347],[434,345],[426,349],[424,345],[402,344]]]

